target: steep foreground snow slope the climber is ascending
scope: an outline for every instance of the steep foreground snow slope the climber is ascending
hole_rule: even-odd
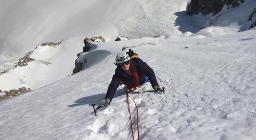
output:
[[[0,139],[132,139],[123,86],[97,116],[91,106],[102,103],[123,46],[136,46],[166,88],[158,94],[146,83],[130,93],[135,139],[131,98],[139,110],[141,140],[255,140],[255,29],[209,38],[186,33],[97,43],[93,51],[110,52],[107,57],[88,52],[95,58],[89,68],[0,102]]]

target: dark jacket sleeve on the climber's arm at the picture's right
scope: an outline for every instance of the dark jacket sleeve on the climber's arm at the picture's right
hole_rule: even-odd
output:
[[[152,87],[154,88],[154,86],[158,85],[158,82],[156,80],[156,75],[153,69],[149,67],[147,63],[143,62],[140,58],[137,58],[137,63],[138,63],[138,66],[141,67],[142,72],[147,76]]]

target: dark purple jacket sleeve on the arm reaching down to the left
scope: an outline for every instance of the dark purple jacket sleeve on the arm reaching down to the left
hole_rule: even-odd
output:
[[[121,80],[120,80],[119,75],[117,73],[117,69],[115,69],[115,74],[113,75],[112,80],[109,84],[109,88],[108,88],[105,100],[107,98],[109,98],[110,102],[112,101],[112,98],[114,97],[115,92],[116,92],[117,88],[119,87],[120,83],[121,83]]]

